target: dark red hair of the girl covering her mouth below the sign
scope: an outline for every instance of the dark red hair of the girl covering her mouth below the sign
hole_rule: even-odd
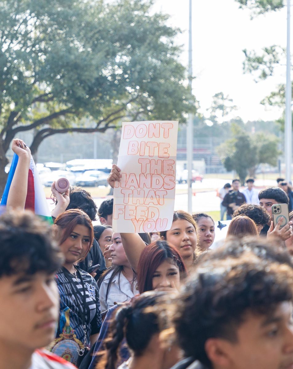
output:
[[[167,241],[156,240],[142,250],[137,268],[137,282],[139,293],[153,289],[153,275],[155,270],[165,260],[171,260],[179,268],[180,277],[186,276],[186,268],[182,256],[176,248]]]

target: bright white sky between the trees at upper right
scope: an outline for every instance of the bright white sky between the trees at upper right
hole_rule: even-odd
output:
[[[192,7],[193,92],[201,111],[210,106],[215,93],[223,92],[234,100],[239,107],[236,115],[244,121],[279,118],[279,108],[265,108],[260,101],[279,83],[286,83],[286,67],[255,83],[253,76],[243,74],[242,50],[261,51],[273,44],[285,47],[286,8],[251,20],[251,12],[239,9],[234,0],[193,0]],[[181,61],[188,65],[189,0],[154,0],[153,9],[170,14],[169,25],[185,31],[178,43],[184,44]]]

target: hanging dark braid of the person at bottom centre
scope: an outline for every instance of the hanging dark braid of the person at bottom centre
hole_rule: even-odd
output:
[[[127,329],[128,319],[132,314],[132,307],[125,306],[120,308],[112,322],[113,335],[111,341],[106,343],[107,362],[105,369],[115,369],[118,359],[118,348],[125,337],[125,330]]]

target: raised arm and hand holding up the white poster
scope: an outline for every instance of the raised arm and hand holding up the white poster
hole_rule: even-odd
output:
[[[107,178],[108,183],[112,188],[114,188],[114,183],[116,181],[120,181],[121,178],[121,169],[118,168],[116,164],[113,164],[110,175]],[[144,241],[140,238],[137,233],[121,233],[121,241],[123,244],[123,248],[125,254],[127,256],[128,261],[130,262],[131,268],[137,272],[138,261],[141,255],[142,250],[145,247]]]

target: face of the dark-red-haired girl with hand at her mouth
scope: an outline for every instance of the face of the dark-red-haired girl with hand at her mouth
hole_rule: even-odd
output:
[[[164,291],[180,287],[180,273],[172,259],[165,260],[155,270],[153,275],[153,290]]]

